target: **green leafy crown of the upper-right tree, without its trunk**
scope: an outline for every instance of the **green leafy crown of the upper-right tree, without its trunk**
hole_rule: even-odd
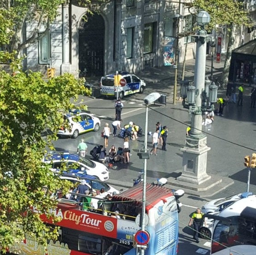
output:
[[[243,2],[235,0],[194,0],[193,6],[196,12],[204,10],[209,13],[211,21],[208,25],[209,29],[215,27],[216,24],[227,25],[232,24],[246,25],[250,24],[248,12],[244,11]]]

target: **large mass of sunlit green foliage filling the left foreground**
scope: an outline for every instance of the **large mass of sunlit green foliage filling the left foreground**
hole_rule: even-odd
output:
[[[40,213],[56,207],[50,197],[56,187],[65,193],[69,185],[42,164],[45,148],[63,122],[62,112],[74,108],[72,101],[88,92],[84,80],[64,74],[49,81],[41,73],[12,76],[0,72],[0,243],[22,241],[25,234],[46,244],[56,239],[40,220]],[[44,136],[42,134],[44,133]],[[48,192],[42,186],[47,185]],[[58,220],[57,218],[55,220]]]

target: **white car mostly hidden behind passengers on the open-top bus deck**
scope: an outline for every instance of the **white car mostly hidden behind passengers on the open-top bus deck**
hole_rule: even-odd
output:
[[[83,178],[79,178],[76,175],[73,175],[72,173],[66,173],[63,174],[61,176],[59,176],[59,178],[61,180],[68,180],[72,183],[77,183],[77,182],[81,182],[82,180],[84,180]],[[109,193],[111,194],[111,196],[114,194],[119,194],[120,192],[118,190],[116,190],[114,187],[112,187],[111,185],[108,185],[105,182],[99,182],[96,179],[94,179],[95,177],[90,176],[90,180],[86,180],[86,185],[90,190],[98,190],[100,191],[100,189],[104,188],[105,193]]]

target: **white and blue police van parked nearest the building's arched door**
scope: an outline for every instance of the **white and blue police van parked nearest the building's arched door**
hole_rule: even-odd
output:
[[[100,93],[104,96],[117,96],[121,99],[124,96],[134,94],[134,93],[143,93],[146,84],[145,81],[141,80],[138,76],[130,74],[125,71],[118,72],[118,75],[121,75],[120,86],[114,86],[114,75],[106,75],[100,79]]]

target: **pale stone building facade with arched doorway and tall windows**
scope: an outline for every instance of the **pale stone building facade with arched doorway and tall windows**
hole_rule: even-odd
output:
[[[70,72],[77,76],[116,70],[137,73],[147,66],[163,66],[166,42],[169,57],[175,57],[177,32],[192,25],[192,16],[188,18],[186,6],[179,1],[113,0],[88,15],[87,21],[86,12],[75,0],[60,6],[49,34],[24,52],[24,68],[46,74],[47,68],[53,67],[56,75]],[[27,23],[24,36],[29,37],[35,25]],[[44,30],[41,27],[39,32]],[[184,58],[185,42],[185,37],[178,41],[179,61]],[[186,58],[193,57],[190,38]]]

